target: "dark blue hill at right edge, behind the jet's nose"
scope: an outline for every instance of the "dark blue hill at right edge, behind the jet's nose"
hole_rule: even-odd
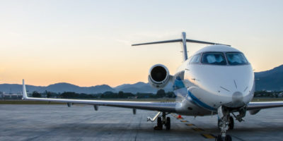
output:
[[[255,73],[255,90],[283,90],[283,65]]]

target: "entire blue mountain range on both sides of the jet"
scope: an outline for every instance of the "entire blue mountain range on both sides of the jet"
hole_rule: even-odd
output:
[[[29,92],[77,92],[85,94],[98,94],[103,92],[137,92],[156,93],[156,89],[151,87],[149,83],[137,82],[134,84],[123,84],[117,87],[110,87],[109,85],[96,85],[91,87],[79,87],[66,82],[59,82],[48,86],[34,86],[26,85]],[[164,90],[166,92],[172,91],[172,84],[169,83]],[[273,68],[269,71],[262,71],[255,73],[255,90],[283,90],[283,65]],[[0,92],[18,94],[22,91],[22,85],[18,84],[0,84]]]

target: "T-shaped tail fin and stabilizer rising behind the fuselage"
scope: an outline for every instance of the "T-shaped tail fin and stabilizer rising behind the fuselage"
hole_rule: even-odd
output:
[[[171,43],[171,42],[182,42],[183,43],[183,60],[187,60],[187,42],[192,42],[192,43],[197,43],[197,44],[219,44],[215,42],[204,42],[204,41],[198,41],[194,39],[187,39],[186,38],[186,33],[182,32],[182,39],[172,39],[172,40],[166,40],[166,41],[158,41],[158,42],[146,42],[146,43],[141,43],[141,44],[132,44],[132,46],[139,46],[139,45],[146,45],[146,44],[163,44],[163,43]],[[226,45],[230,46],[228,44],[221,44],[221,45]]]

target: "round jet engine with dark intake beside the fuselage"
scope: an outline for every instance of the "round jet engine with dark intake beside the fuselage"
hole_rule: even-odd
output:
[[[168,68],[156,64],[149,69],[149,84],[151,87],[161,89],[169,82],[170,74]]]

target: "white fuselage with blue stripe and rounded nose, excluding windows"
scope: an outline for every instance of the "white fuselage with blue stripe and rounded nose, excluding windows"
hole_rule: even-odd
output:
[[[224,45],[212,45],[200,49],[195,54],[227,52],[241,53],[237,49]],[[192,63],[192,57],[178,68],[174,75],[174,92],[180,103],[176,111],[190,116],[205,116],[216,114],[219,106],[241,108],[251,99],[255,88],[253,68],[250,63],[230,65],[226,59],[225,65]]]

